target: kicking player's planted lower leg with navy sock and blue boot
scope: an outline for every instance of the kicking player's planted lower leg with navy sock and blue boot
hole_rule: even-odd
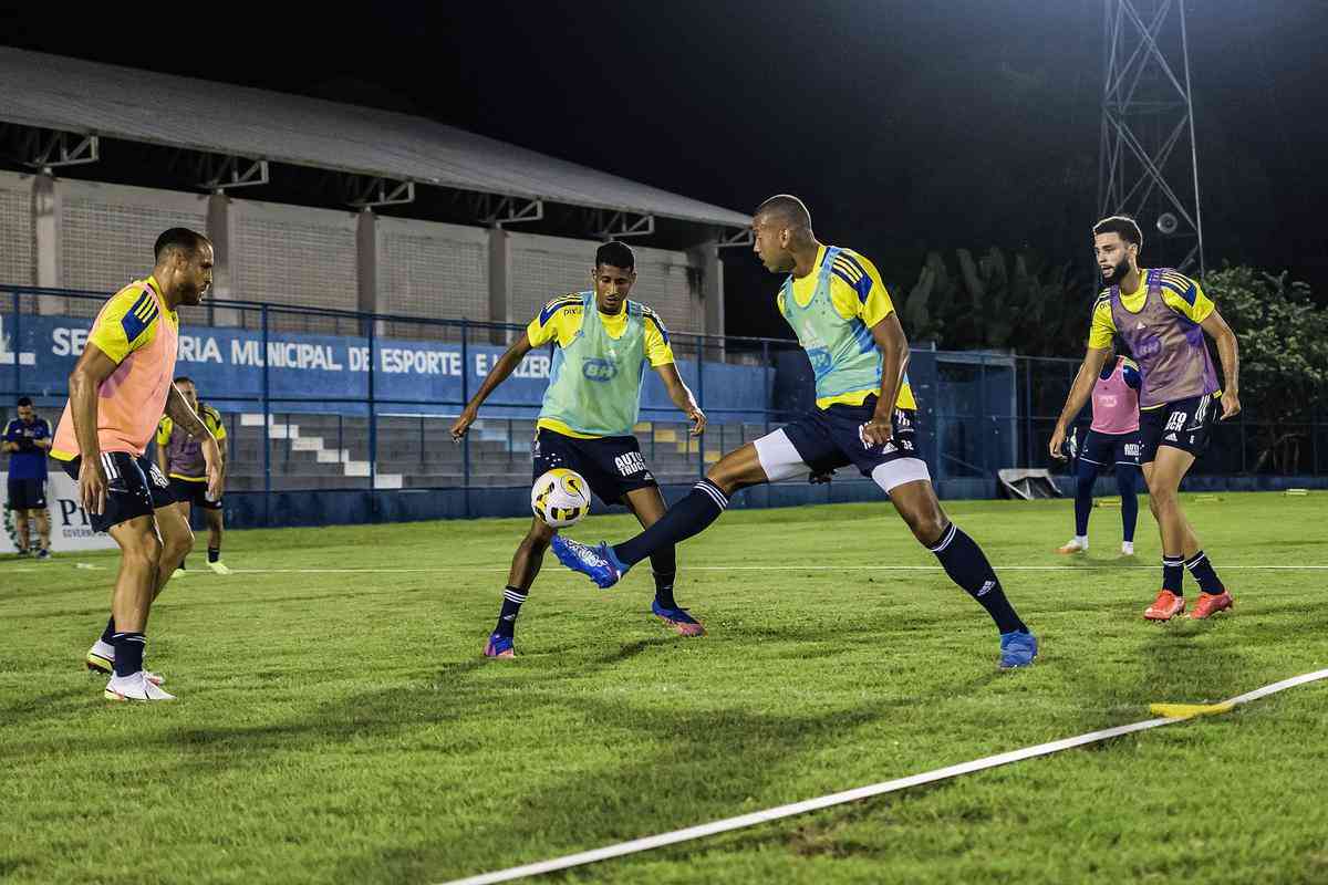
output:
[[[1000,579],[977,543],[946,517],[931,482],[922,479],[890,490],[895,510],[927,549],[936,555],[950,580],[968,592],[1000,632],[1000,666],[1028,666],[1037,657],[1037,638],[1005,598]]]

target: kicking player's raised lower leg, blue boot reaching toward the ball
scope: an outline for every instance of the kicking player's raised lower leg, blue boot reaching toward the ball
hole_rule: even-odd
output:
[[[761,470],[756,446],[746,443],[716,462],[689,495],[636,537],[612,547],[607,541],[591,547],[558,536],[554,539],[554,553],[559,563],[607,589],[655,551],[705,531],[728,508],[729,495],[734,491],[764,482],[765,471]]]

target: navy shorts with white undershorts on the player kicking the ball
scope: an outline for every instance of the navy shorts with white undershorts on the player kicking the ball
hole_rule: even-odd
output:
[[[826,474],[853,464],[886,491],[906,482],[931,479],[919,448],[918,413],[895,409],[891,441],[884,446],[869,446],[862,426],[871,421],[875,409],[874,395],[861,406],[835,403],[814,409],[756,441],[766,478],[777,482],[799,472]]]

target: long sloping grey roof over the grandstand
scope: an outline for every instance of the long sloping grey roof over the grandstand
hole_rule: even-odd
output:
[[[0,122],[742,231],[749,216],[422,117],[0,48]],[[52,147],[46,147],[49,157]],[[69,159],[69,146],[58,151]],[[76,147],[77,151],[77,147]],[[58,165],[50,162],[49,165]],[[232,167],[232,175],[238,175]],[[232,180],[228,186],[262,183]],[[222,183],[220,186],[227,186]],[[413,194],[413,190],[410,191]],[[380,180],[380,200],[389,199]],[[409,199],[409,198],[406,198]],[[511,200],[506,219],[525,220]],[[619,224],[631,227],[620,219]],[[651,220],[653,230],[653,222]],[[647,232],[639,230],[637,232]]]

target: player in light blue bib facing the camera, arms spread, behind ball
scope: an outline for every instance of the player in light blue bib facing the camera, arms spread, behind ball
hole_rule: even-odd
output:
[[[645,361],[659,373],[669,399],[692,422],[692,435],[705,430],[705,414],[673,362],[668,329],[648,306],[628,300],[636,283],[636,257],[625,243],[612,241],[595,252],[594,291],[554,299],[498,358],[479,390],[452,425],[459,441],[479,414],[479,405],[510,375],[531,348],[555,344],[544,402],[535,422],[531,456],[538,479],[554,467],[580,474],[591,491],[608,503],[622,503],[641,525],[664,513],[664,498],[651,475],[641,447],[632,437],[640,407]],[[517,616],[556,529],[535,517],[511,560],[498,625],[485,644],[485,655],[515,655]],[[672,544],[651,555],[655,600],[651,612],[680,636],[705,629],[673,598],[677,573]]]

